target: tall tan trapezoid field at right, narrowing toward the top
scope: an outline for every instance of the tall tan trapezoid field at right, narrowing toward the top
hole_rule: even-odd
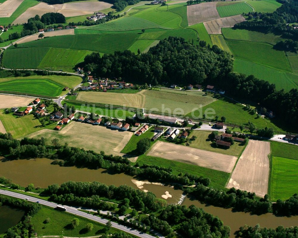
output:
[[[270,142],[249,140],[226,187],[264,197],[268,192],[269,154]]]

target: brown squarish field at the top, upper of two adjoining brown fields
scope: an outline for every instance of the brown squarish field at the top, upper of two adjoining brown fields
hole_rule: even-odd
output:
[[[216,10],[216,2],[206,2],[187,6],[188,25],[193,25],[220,18]]]

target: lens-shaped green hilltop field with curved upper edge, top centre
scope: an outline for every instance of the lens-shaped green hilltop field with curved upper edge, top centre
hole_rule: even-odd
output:
[[[136,17],[122,17],[113,21],[108,21],[104,24],[99,24],[90,29],[98,29],[105,31],[126,31],[126,30],[137,30],[137,29],[149,29],[149,28],[163,28],[159,24],[148,21],[142,18]]]

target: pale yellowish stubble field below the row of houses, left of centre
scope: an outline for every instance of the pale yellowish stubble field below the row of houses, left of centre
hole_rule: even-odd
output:
[[[49,144],[52,139],[58,138],[61,144],[67,142],[70,146],[85,150],[104,151],[106,154],[123,156],[125,154],[120,151],[132,135],[133,133],[129,131],[72,121],[60,131],[43,129],[28,135],[28,137],[41,138],[43,136]]]

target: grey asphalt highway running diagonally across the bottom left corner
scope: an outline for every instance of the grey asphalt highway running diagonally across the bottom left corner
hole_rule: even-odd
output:
[[[48,202],[46,200],[42,200],[42,199],[39,199],[39,198],[30,197],[28,195],[23,195],[23,194],[19,194],[19,193],[16,193],[16,192],[11,192],[11,191],[6,191],[6,190],[2,190],[2,189],[0,189],[0,194],[7,195],[7,196],[10,196],[10,197],[16,197],[16,198],[24,199],[24,200],[26,198],[28,198],[28,201],[30,201],[30,202],[37,202],[38,201],[40,204],[45,205],[45,206],[49,206],[49,207],[52,207],[52,208],[56,208],[57,205],[58,205],[57,203]],[[85,213],[83,211],[78,211],[74,207],[70,207],[70,206],[65,206],[65,207],[67,208],[66,212],[69,212],[71,214],[75,214],[75,215],[78,215],[80,217],[85,217],[89,220],[93,220],[93,221],[96,221],[96,222],[99,222],[99,223],[102,223],[102,224],[105,224],[105,223],[108,222],[108,220],[106,220],[106,219],[103,219],[103,218],[100,218],[100,217]],[[134,230],[134,229],[126,227],[124,225],[120,225],[120,224],[117,224],[117,223],[114,223],[114,222],[111,222],[111,223],[112,223],[112,227],[114,227],[116,229],[119,229],[121,231],[125,231],[129,234],[135,235],[137,237],[155,238],[155,237],[153,237],[149,234]]]

